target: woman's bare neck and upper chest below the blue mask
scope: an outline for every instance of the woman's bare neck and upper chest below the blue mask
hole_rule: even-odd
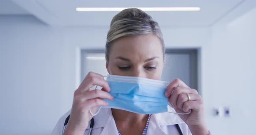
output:
[[[111,109],[111,111],[115,121],[118,122],[134,123],[147,121],[148,119],[148,114],[132,113],[121,109]]]

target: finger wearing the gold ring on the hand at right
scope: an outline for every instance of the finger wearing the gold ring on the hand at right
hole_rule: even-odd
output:
[[[198,94],[189,94],[189,96],[190,96],[190,101],[201,100],[201,96],[198,95]],[[187,102],[187,101],[188,101],[187,93],[181,93],[178,96],[177,107],[179,109],[182,109],[184,103]]]

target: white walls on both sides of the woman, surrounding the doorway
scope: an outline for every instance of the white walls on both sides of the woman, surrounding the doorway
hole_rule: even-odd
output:
[[[213,28],[162,27],[167,48],[200,48],[200,87],[207,125],[215,135],[252,132],[245,129],[253,127],[251,111],[256,110],[250,106],[255,95],[253,16],[255,10]],[[49,134],[72,105],[77,48],[104,48],[107,31],[53,28],[33,16],[0,16],[0,134]],[[212,109],[219,106],[230,106],[231,117],[214,117]]]

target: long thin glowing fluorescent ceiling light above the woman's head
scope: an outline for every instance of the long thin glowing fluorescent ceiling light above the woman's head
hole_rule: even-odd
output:
[[[200,7],[77,7],[76,11],[121,11],[127,8],[143,11],[200,11]]]

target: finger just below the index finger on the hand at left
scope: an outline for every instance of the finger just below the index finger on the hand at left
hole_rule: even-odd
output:
[[[108,100],[114,99],[114,96],[112,96],[111,94],[109,94],[105,91],[102,91],[102,90],[86,91],[81,96],[84,100],[90,100],[90,99],[94,99],[94,98],[102,98],[102,99],[108,99]]]

